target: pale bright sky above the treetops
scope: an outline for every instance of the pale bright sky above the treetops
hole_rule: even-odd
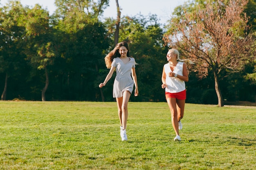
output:
[[[9,0],[0,0],[1,6],[4,6]],[[121,8],[121,17],[135,16],[141,14],[147,16],[156,14],[161,24],[165,24],[170,19],[171,13],[175,7],[184,4],[188,0],[119,0]],[[54,0],[20,0],[22,5],[34,7],[40,4],[43,8],[47,8],[50,14],[54,13],[56,7]],[[104,10],[103,17],[117,17],[116,1],[110,0],[109,7]]]

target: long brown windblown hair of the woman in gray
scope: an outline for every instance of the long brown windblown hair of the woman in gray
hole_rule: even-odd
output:
[[[130,50],[129,50],[128,43],[126,41],[119,42],[119,43],[117,43],[115,48],[112,51],[110,51],[108,53],[108,55],[104,58],[107,68],[111,68],[111,64],[112,64],[114,58],[121,56],[119,53],[119,49],[121,46],[126,47],[127,57],[130,57],[130,52],[129,52]]]

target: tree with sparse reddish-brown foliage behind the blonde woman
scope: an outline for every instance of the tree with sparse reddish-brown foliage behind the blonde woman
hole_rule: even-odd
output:
[[[247,18],[243,10],[247,0],[227,4],[207,1],[193,12],[179,11],[182,16],[171,19],[172,27],[165,34],[168,46],[178,48],[182,56],[195,61],[199,78],[213,72],[218,106],[224,106],[219,81],[222,72],[239,73],[254,57],[251,33],[246,34]],[[197,7],[192,4],[190,7]],[[181,9],[181,8],[180,8]]]

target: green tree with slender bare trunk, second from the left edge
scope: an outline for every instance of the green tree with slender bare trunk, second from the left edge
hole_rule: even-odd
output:
[[[49,86],[48,67],[54,64],[56,46],[52,27],[49,23],[49,13],[36,4],[25,15],[27,49],[24,53],[30,64],[39,70],[45,71],[45,86],[42,89],[42,101],[46,101],[45,92]]]

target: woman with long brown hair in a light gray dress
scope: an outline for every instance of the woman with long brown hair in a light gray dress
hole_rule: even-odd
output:
[[[130,57],[128,43],[123,41],[118,43],[115,48],[105,57],[107,68],[110,68],[108,75],[103,83],[99,84],[99,88],[106,85],[116,70],[113,85],[113,97],[116,98],[118,115],[120,120],[120,135],[122,141],[127,141],[126,124],[128,119],[128,102],[135,85],[135,93],[139,94],[137,75],[135,73],[135,59]]]

